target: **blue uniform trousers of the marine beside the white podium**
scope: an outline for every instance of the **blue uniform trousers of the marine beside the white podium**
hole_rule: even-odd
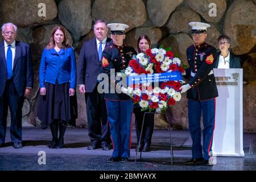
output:
[[[188,100],[188,123],[192,138],[192,159],[208,160],[212,156],[212,140],[215,125],[216,100],[192,101]],[[203,114],[203,152],[201,146],[200,119]],[[203,155],[204,154],[204,155]]]

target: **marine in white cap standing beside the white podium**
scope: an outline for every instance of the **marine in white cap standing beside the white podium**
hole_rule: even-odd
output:
[[[187,92],[188,122],[192,138],[192,159],[187,165],[203,164],[212,166],[209,159],[212,154],[212,140],[215,122],[215,98],[218,96],[216,81],[213,74],[214,61],[217,59],[216,48],[205,43],[207,23],[191,22],[194,44],[187,48],[189,68],[186,76],[189,81],[181,86],[181,93]],[[201,146],[200,119],[203,114],[203,152]]]

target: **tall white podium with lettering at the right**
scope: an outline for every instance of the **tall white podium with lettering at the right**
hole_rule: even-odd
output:
[[[213,156],[245,156],[243,152],[243,70],[215,69],[216,98]]]

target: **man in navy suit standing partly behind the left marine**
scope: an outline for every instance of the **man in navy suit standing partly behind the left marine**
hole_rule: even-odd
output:
[[[104,93],[100,94],[97,91],[97,77],[100,73],[102,51],[110,46],[111,39],[107,38],[108,27],[104,20],[97,20],[93,29],[96,38],[82,44],[77,66],[77,85],[80,93],[85,93],[88,133],[91,140],[88,150],[99,147],[102,150],[110,150],[106,104]]]

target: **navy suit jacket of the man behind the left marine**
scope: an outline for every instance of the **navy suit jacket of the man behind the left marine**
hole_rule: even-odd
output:
[[[107,38],[105,49],[110,46],[112,39]],[[98,58],[96,38],[84,42],[77,65],[77,85],[84,84],[86,92],[93,92],[100,73],[101,58]]]

